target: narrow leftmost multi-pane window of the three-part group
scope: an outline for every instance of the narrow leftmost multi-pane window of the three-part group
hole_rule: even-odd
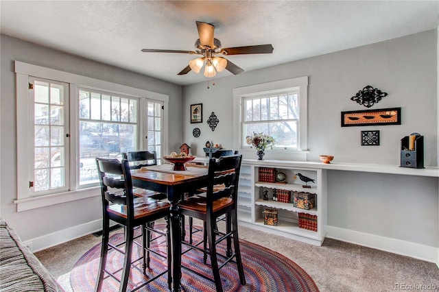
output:
[[[29,78],[29,116],[32,132],[29,157],[33,161],[29,184],[33,195],[67,191],[69,177],[69,85],[38,78]]]

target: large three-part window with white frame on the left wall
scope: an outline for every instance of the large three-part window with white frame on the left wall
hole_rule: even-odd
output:
[[[15,73],[17,211],[99,195],[97,156],[167,148],[167,95],[18,61]]]

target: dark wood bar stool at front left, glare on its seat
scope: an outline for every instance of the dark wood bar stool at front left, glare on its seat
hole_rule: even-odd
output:
[[[120,282],[119,291],[126,291],[128,286],[128,278],[130,276],[131,265],[142,260],[143,274],[150,265],[150,252],[156,256],[167,258],[168,268],[165,271],[157,273],[139,287],[156,280],[158,277],[167,273],[169,289],[171,287],[171,244],[169,236],[169,203],[161,202],[150,197],[138,197],[133,195],[132,178],[128,160],[123,159],[119,162],[117,159],[96,158],[97,169],[99,172],[99,182],[101,184],[102,194],[102,210],[103,210],[103,232],[102,232],[102,250],[99,261],[99,275],[95,286],[95,291],[102,290],[102,284],[105,274],[115,278]],[[165,231],[154,229],[154,221],[164,218],[167,222]],[[119,223],[125,228],[125,241],[120,244],[112,244],[109,242],[110,220]],[[141,226],[141,234],[134,236],[134,229]],[[156,250],[150,248],[151,236],[150,232],[156,232],[166,236],[167,254],[163,255]],[[139,244],[134,239],[142,237],[142,243]],[[155,239],[158,239],[156,237]],[[133,244],[141,246],[143,252],[140,258],[132,260]],[[121,248],[125,245],[125,248]],[[124,254],[123,267],[118,271],[108,271],[106,269],[106,259],[108,252],[121,252]],[[121,278],[115,274],[121,272]]]

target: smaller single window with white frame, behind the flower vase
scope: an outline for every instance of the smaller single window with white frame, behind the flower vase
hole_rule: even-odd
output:
[[[276,151],[307,151],[307,85],[298,77],[234,88],[235,147],[250,149],[246,137],[263,132]]]

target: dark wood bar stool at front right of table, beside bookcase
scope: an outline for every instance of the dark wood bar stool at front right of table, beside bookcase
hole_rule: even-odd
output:
[[[222,156],[218,159],[211,158],[209,160],[206,193],[194,195],[180,203],[181,215],[203,221],[204,239],[202,242],[193,243],[190,239],[190,242],[183,240],[182,244],[189,245],[187,252],[192,249],[203,252],[204,263],[206,263],[206,256],[210,255],[213,279],[208,279],[215,282],[216,291],[223,291],[219,269],[234,259],[237,264],[239,280],[241,284],[246,284],[239,250],[237,221],[237,193],[241,160],[241,155]],[[220,232],[217,229],[217,218],[222,215],[226,215],[226,232]],[[217,239],[217,236],[219,236],[219,239]],[[216,248],[217,244],[224,240],[226,240],[227,245],[225,255],[219,254]],[[234,250],[232,249],[232,240]],[[209,243],[209,248],[207,243]],[[224,258],[224,262],[220,267],[218,266],[218,256]],[[206,278],[201,273],[186,267],[184,263],[182,263],[182,268],[189,269],[193,273]]]

